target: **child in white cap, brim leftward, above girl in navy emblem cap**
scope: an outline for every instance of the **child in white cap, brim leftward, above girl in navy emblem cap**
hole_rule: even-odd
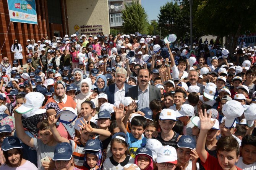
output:
[[[181,105],[181,108],[178,112],[176,112],[176,117],[183,122],[183,134],[184,135],[192,135],[192,127],[194,126],[191,122],[191,118],[194,116],[194,107],[189,104]]]

